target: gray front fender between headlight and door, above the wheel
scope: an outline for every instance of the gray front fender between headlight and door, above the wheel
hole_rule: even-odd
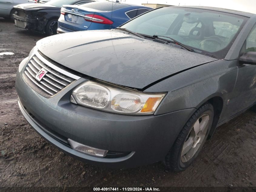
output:
[[[199,108],[214,96],[221,97],[223,103],[227,103],[237,77],[236,63],[225,60],[210,62],[178,73],[146,89],[145,92],[168,92],[155,114]]]

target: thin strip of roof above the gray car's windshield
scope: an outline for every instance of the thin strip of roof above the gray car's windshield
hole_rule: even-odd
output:
[[[218,8],[218,7],[205,7],[205,6],[169,6],[169,7],[184,7],[184,8],[206,9],[206,10],[212,10],[212,11],[231,13],[231,14],[235,14],[235,15],[242,15],[242,16],[245,16],[245,17],[253,17],[253,16],[256,15],[256,14],[249,13],[249,12],[243,12],[243,11],[226,9],[226,8]]]

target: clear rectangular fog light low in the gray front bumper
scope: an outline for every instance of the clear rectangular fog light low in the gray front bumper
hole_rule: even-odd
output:
[[[95,157],[106,157],[108,153],[108,150],[97,149],[94,147],[83,145],[71,139],[68,139],[68,142],[74,150],[85,153],[87,155],[92,155]]]

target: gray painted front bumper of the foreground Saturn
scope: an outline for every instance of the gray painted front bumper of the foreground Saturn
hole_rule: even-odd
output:
[[[26,120],[65,153],[99,166],[136,167],[163,160],[195,110],[131,116],[90,109],[69,101],[72,89],[87,79],[78,79],[54,97],[45,98],[25,83],[23,70],[17,73],[16,89]],[[99,149],[128,153],[117,158],[93,157],[73,150],[65,143],[67,138]]]

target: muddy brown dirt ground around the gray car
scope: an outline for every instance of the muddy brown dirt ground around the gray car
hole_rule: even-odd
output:
[[[187,170],[166,172],[161,162],[126,170],[82,163],[42,139],[17,104],[15,73],[44,35],[0,19],[0,186],[256,186],[256,113],[220,126]]]

